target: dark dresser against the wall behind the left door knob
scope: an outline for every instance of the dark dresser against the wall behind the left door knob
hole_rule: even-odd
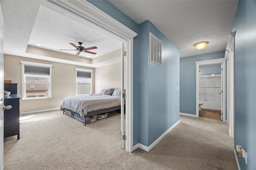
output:
[[[11,105],[12,109],[4,110],[4,138],[17,135],[20,139],[20,96],[17,83],[4,83],[4,90],[11,94],[4,97],[4,105]]]

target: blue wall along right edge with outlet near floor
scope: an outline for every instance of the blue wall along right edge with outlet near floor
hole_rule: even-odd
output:
[[[232,31],[235,36],[235,145],[247,151],[247,165],[256,169],[256,1],[239,1]]]

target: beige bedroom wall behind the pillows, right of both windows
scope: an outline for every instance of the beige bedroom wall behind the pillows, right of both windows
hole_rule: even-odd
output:
[[[95,68],[95,93],[111,87],[121,88],[121,63]]]

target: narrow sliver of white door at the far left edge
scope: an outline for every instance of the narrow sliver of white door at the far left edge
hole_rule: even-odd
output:
[[[0,169],[4,169],[4,64],[3,64],[3,31],[4,20],[2,16],[2,8],[0,4]]]

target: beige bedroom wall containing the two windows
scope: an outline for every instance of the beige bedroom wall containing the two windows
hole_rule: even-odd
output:
[[[51,99],[32,99],[20,100],[20,112],[38,111],[44,109],[59,108],[62,99],[66,96],[76,95],[76,71],[75,68],[91,69],[92,67],[83,67],[78,65],[70,65],[64,63],[56,63],[52,61],[44,61],[39,59],[31,59],[13,55],[4,55],[4,79],[12,80],[18,83],[18,92],[21,96],[21,64],[20,61],[30,61],[36,63],[52,64],[52,98]],[[94,73],[92,74],[92,79]],[[92,93],[94,93],[94,82],[92,82]]]

